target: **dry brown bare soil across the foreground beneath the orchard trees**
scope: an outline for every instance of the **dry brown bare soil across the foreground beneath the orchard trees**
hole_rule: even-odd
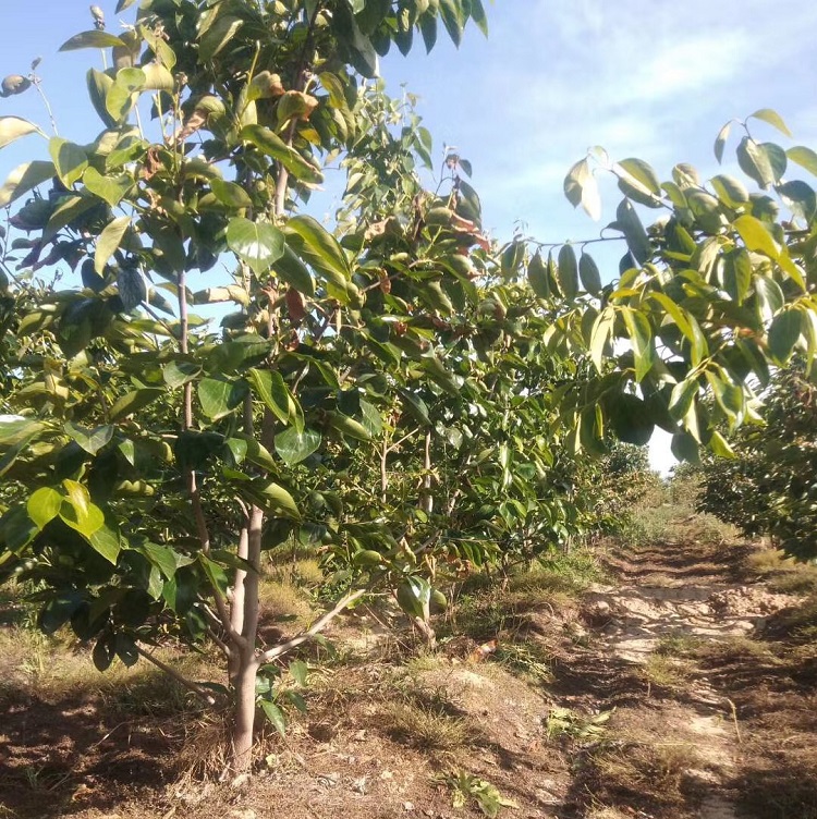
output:
[[[520,819],[817,819],[817,600],[748,572],[756,548],[614,546],[609,584],[498,594],[491,616],[440,623],[455,636],[432,656],[350,616],[247,781],[202,777],[218,716],[38,687],[5,651],[0,818],[479,817],[444,781],[466,772]]]

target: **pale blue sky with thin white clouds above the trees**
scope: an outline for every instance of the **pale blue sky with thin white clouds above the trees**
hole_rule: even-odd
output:
[[[721,125],[773,108],[795,144],[817,145],[817,4],[793,0],[496,0],[485,2],[485,38],[470,25],[460,49],[443,36],[425,54],[419,37],[407,58],[381,63],[392,95],[417,95],[418,113],[443,145],[456,146],[474,168],[487,231],[500,241],[515,229],[542,242],[598,235],[619,196],[602,182],[605,211],[594,223],[562,193],[570,167],[589,146],[614,159],[639,157],[669,179],[684,161],[711,176],[719,169],[712,143]],[[117,32],[115,0],[99,5]],[[133,12],[125,14],[131,20]],[[90,52],[57,53],[90,28],[82,0],[0,2],[0,76],[38,74],[61,135],[89,142],[98,119],[85,95]],[[26,117],[48,130],[37,96],[0,99],[0,114]],[[758,138],[789,142],[759,124]],[[731,146],[734,146],[733,137]],[[730,154],[729,147],[727,151]],[[32,136],[0,151],[0,179],[20,162],[46,158]],[[729,166],[727,166],[729,171]],[[615,257],[599,256],[602,278]],[[607,277],[605,270],[609,270]],[[672,464],[667,439],[651,444],[651,461]]]

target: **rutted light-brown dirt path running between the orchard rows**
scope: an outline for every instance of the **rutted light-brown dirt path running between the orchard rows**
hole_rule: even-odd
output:
[[[724,563],[722,549],[700,543],[620,548],[610,555],[618,582],[595,585],[585,597],[597,639],[578,672],[589,671],[594,655],[597,664],[605,658],[601,673],[589,674],[596,685],[587,694],[596,701],[577,700],[615,708],[610,732],[621,754],[590,755],[592,775],[578,783],[592,794],[584,816],[739,816],[731,785],[743,738],[737,708],[685,655],[748,641],[792,603],[791,596],[742,580],[742,558],[735,551]]]

